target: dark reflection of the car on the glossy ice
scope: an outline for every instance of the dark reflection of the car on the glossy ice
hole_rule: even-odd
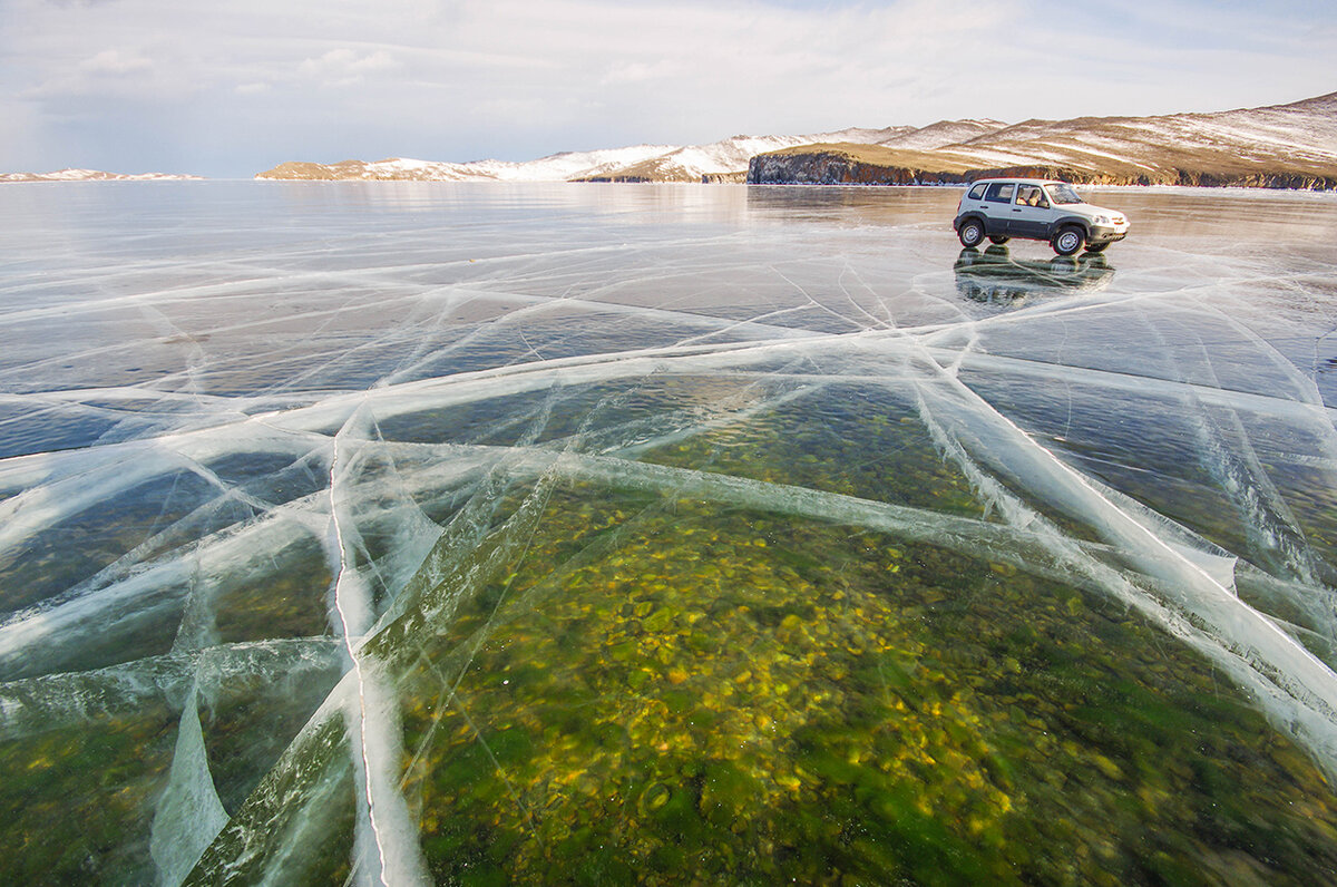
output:
[[[1012,258],[1007,246],[991,246],[983,253],[963,249],[952,270],[961,296],[1003,308],[1015,308],[1034,296],[1095,292],[1114,278],[1104,256],[1084,253],[1039,261]]]

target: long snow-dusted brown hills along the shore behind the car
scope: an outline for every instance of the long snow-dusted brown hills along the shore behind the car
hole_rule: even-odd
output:
[[[925,127],[735,135],[528,162],[281,163],[259,179],[932,185],[989,174],[1092,185],[1337,189],[1337,92],[1211,114],[943,120]]]

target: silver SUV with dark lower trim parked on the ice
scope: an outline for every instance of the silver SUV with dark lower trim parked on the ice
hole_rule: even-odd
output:
[[[1048,241],[1059,256],[1075,256],[1084,246],[1099,253],[1128,234],[1123,213],[1091,206],[1067,182],[1052,179],[980,179],[961,195],[952,221],[961,246],[984,238],[1005,243],[1023,237]]]

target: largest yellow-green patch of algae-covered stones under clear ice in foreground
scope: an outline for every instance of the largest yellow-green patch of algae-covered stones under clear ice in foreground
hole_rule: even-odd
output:
[[[1305,756],[1128,614],[929,546],[674,504],[554,587],[570,542],[536,540],[535,585],[481,589],[443,638],[467,656],[412,681],[405,791],[439,880],[1112,884],[1258,847],[1337,862]]]

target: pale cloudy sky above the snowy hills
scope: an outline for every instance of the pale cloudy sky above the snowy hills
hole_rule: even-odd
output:
[[[249,178],[1337,91],[1337,0],[0,0],[0,171]]]

